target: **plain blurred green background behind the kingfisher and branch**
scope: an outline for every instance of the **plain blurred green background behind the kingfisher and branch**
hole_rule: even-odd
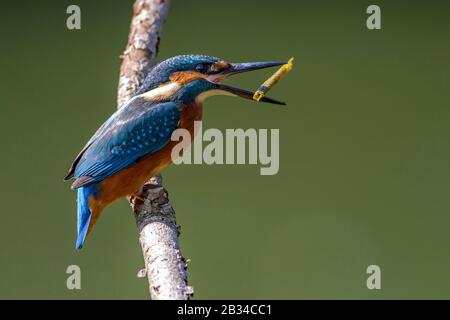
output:
[[[82,30],[66,28],[78,4]],[[174,1],[159,59],[296,58],[286,108],[206,102],[204,127],[279,128],[280,171],[171,166],[197,299],[450,298],[450,31],[444,1]],[[104,212],[82,251],[62,178],[115,108],[131,1],[2,2],[0,298],[146,299],[131,210]],[[230,79],[256,88],[271,71]],[[81,267],[82,290],[66,288]],[[368,290],[366,268],[382,270]]]

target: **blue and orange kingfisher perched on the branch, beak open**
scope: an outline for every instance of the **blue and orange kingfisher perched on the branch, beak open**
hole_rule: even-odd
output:
[[[65,177],[75,179],[71,188],[77,190],[76,248],[83,247],[107,205],[122,197],[139,198],[143,184],[172,162],[174,130],[188,130],[193,140],[194,121],[201,121],[207,97],[252,100],[254,92],[222,84],[223,80],[285,63],[230,63],[206,55],[180,55],[151,69],[136,94],[86,143]],[[285,104],[269,97],[260,101]]]

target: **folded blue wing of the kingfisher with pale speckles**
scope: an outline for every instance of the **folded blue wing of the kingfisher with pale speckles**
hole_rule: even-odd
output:
[[[162,149],[179,120],[174,102],[131,100],[100,127],[77,157],[72,188],[102,181]]]

